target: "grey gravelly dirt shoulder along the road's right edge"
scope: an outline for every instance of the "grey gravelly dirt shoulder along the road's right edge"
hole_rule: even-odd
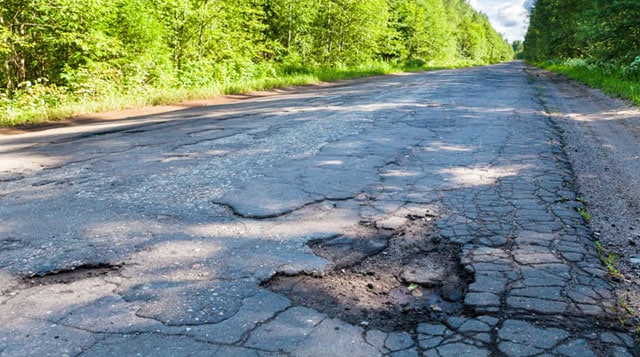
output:
[[[527,67],[549,115],[562,129],[619,308],[640,324],[640,110],[562,75]],[[617,281],[616,281],[617,280]]]

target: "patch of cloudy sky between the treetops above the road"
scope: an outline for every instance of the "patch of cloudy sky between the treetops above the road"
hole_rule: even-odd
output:
[[[493,28],[509,42],[524,39],[528,10],[534,2],[535,0],[469,0],[474,9],[487,14]]]

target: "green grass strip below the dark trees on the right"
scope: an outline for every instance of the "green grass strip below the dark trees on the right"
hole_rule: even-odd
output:
[[[594,65],[585,60],[564,60],[533,63],[547,70],[561,73],[576,79],[590,87],[635,105],[640,105],[640,80],[628,78],[620,67],[612,65]]]

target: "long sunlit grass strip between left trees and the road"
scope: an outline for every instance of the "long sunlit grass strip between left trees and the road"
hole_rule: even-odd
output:
[[[108,110],[140,108],[151,105],[165,105],[187,100],[209,99],[225,94],[239,94],[251,91],[332,82],[400,72],[416,72],[446,68],[460,68],[475,65],[469,62],[445,64],[425,64],[408,62],[390,65],[384,62],[369,63],[355,67],[341,68],[292,68],[280,70],[273,77],[242,79],[229,83],[213,83],[197,88],[137,88],[129,93],[113,91],[101,95],[78,96],[65,88],[35,84],[22,93],[8,98],[0,93],[0,126],[10,127],[62,120],[74,115],[96,113]]]

